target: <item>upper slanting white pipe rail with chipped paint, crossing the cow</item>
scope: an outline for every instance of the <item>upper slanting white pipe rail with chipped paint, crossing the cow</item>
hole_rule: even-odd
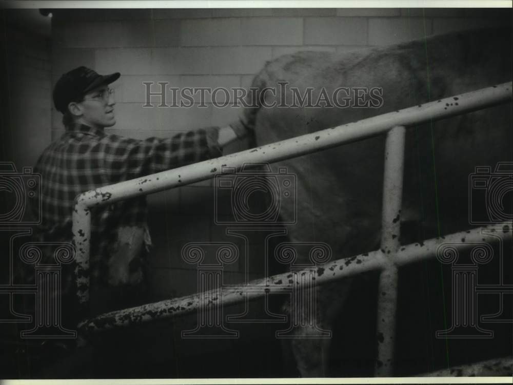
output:
[[[376,117],[348,123],[265,146],[233,153],[203,162],[158,172],[147,177],[112,184],[78,196],[77,204],[86,207],[117,201],[213,178],[223,167],[238,169],[244,163],[278,162],[307,153],[359,141],[388,131],[394,126],[411,126],[505,103],[511,99],[512,83],[483,88],[420,104]],[[446,107],[447,104],[458,105]]]

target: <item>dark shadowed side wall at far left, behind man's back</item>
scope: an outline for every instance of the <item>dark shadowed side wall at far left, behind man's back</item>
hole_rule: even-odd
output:
[[[21,172],[34,165],[51,138],[51,44],[5,15],[0,152],[2,161]]]

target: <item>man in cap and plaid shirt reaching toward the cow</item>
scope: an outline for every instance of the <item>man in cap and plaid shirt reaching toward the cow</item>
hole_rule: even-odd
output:
[[[109,135],[104,129],[116,120],[114,93],[108,85],[119,77],[118,72],[100,75],[78,67],[55,84],[53,101],[63,113],[66,132],[43,151],[34,168],[41,174],[42,184],[39,241],[71,242],[73,201],[82,192],[219,157],[223,146],[252,132],[256,109],[246,108],[239,121],[222,128],[209,127],[166,139]],[[144,292],[143,267],[151,244],[146,197],[98,207],[91,215],[91,300],[100,299],[99,304],[92,302],[92,313],[144,302],[140,296]],[[76,293],[72,266],[63,265],[62,280],[63,309],[72,315]],[[129,285],[137,290],[130,290]],[[110,301],[103,301],[107,295],[94,295],[94,290],[112,286],[124,289],[110,290]],[[69,319],[69,326],[76,321]]]

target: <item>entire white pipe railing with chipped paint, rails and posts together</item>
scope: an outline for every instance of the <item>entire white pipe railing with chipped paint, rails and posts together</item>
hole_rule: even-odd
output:
[[[91,207],[112,204],[121,200],[211,179],[221,172],[222,167],[232,167],[235,171],[240,169],[245,163],[278,162],[329,147],[362,140],[381,133],[387,133],[381,249],[348,259],[330,261],[325,264],[325,267],[330,268],[333,274],[318,274],[315,277],[315,282],[322,284],[369,270],[378,269],[381,271],[379,292],[385,293],[385,295],[379,296],[378,304],[377,328],[382,338],[378,348],[379,364],[376,368],[376,374],[381,376],[390,375],[393,367],[398,266],[432,258],[435,256],[437,247],[441,243],[451,240],[458,241],[463,234],[467,242],[462,243],[461,248],[466,248],[472,241],[494,242],[497,240],[496,237],[483,234],[481,228],[475,228],[463,233],[446,235],[442,237],[443,239],[435,238],[426,240],[421,244],[400,246],[398,241],[400,221],[397,220],[397,216],[400,214],[402,198],[405,127],[427,121],[440,120],[507,102],[511,100],[511,88],[511,82],[487,87],[455,95],[437,102],[389,112],[359,122],[324,129],[232,155],[84,192],[75,200],[72,228],[73,241],[77,253],[77,266],[75,269],[78,287],[77,296],[81,304],[82,315],[84,317],[87,315],[89,302]],[[458,100],[458,105],[453,103],[455,98]],[[447,105],[451,103],[453,105],[447,108]],[[511,224],[504,223],[504,225],[508,226],[509,230],[504,232],[503,236],[510,239],[512,233]],[[333,266],[334,268],[331,268]],[[323,265],[320,265],[320,267],[323,267]],[[219,303],[241,302],[246,298],[261,297],[268,292],[289,292],[292,284],[289,283],[287,275],[288,273],[285,273],[251,281],[246,285],[227,287],[223,290]],[[269,281],[273,282],[273,285],[266,286],[266,283]],[[296,284],[294,282],[294,286]],[[301,283],[299,286],[301,286]],[[246,296],[242,296],[241,294],[243,293]],[[81,322],[79,328],[82,332],[90,332],[110,329],[114,326],[129,325],[134,322],[151,321],[157,318],[171,318],[198,309],[200,306],[199,298],[199,294],[195,294],[103,314],[94,319]]]

